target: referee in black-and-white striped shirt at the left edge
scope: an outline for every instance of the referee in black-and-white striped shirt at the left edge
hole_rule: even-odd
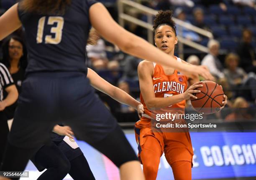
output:
[[[3,91],[8,93],[7,97],[3,99]],[[9,133],[7,117],[3,110],[5,107],[12,105],[18,99],[18,90],[15,87],[13,78],[8,69],[0,63],[0,164],[2,163],[3,153],[7,142],[7,135]]]

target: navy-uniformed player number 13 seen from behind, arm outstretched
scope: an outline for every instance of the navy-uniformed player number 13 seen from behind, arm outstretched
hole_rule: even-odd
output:
[[[123,131],[86,78],[85,50],[90,24],[124,52],[213,77],[200,66],[173,57],[121,28],[95,0],[23,0],[0,17],[0,39],[24,26],[29,62],[1,171],[24,170],[33,153],[49,141],[58,123],[105,154],[121,179],[143,179],[140,163]]]

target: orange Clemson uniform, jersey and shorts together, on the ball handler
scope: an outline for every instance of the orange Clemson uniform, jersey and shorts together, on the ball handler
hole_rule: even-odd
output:
[[[176,57],[176,59],[182,63],[180,58]],[[163,67],[154,63],[152,81],[156,97],[169,97],[184,93],[187,90],[187,80],[188,78],[177,70],[174,70],[172,75],[166,75]],[[141,160],[141,163],[144,164],[148,159],[151,159],[150,154],[143,154],[143,150],[147,152],[145,149],[152,150],[152,152],[160,151],[161,155],[164,153],[170,165],[177,161],[192,162],[193,148],[188,129],[156,128],[155,124],[160,122],[156,120],[157,114],[165,114],[166,112],[184,114],[186,101],[182,100],[172,106],[150,111],[146,107],[142,95],[140,95],[140,98],[145,111],[141,119],[135,123],[134,130],[136,142],[138,143],[138,158]],[[169,119],[166,120],[169,122]],[[174,120],[177,120],[175,122],[186,124],[184,118]],[[161,122],[164,123],[164,119],[161,119]],[[154,138],[157,139],[160,146],[154,145],[156,143]],[[141,153],[143,154],[142,156]],[[144,171],[144,173],[147,175],[149,172]]]

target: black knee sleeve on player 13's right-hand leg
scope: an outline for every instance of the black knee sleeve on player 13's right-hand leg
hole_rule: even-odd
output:
[[[91,145],[107,156],[118,168],[123,163],[138,160],[119,125],[104,139]]]

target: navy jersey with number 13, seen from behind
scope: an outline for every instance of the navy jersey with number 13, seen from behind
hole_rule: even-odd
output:
[[[89,9],[95,0],[72,0],[64,15],[37,15],[18,8],[26,32],[26,72],[82,71],[90,31]]]

